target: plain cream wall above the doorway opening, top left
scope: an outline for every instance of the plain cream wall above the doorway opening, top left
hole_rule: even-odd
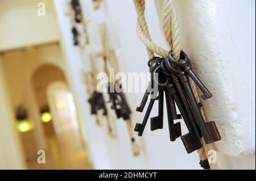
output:
[[[38,16],[39,2],[46,16]],[[59,40],[59,27],[51,0],[0,1],[0,50]]]

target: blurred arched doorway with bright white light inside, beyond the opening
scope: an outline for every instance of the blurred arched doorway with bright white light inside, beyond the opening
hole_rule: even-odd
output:
[[[90,169],[64,72],[44,64],[32,74],[31,83],[48,149],[46,163],[31,161],[30,169]]]

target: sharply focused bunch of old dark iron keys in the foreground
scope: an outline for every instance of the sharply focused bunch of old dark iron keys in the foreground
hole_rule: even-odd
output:
[[[137,123],[134,131],[138,132],[139,136],[142,136],[155,100],[158,100],[158,116],[151,118],[151,131],[163,128],[163,103],[165,94],[171,141],[175,141],[176,138],[181,137],[187,153],[192,153],[202,148],[200,141],[202,136],[206,144],[221,140],[215,122],[210,121],[205,123],[204,117],[201,114],[200,107],[203,104],[196,101],[189,83],[189,77],[193,79],[203,92],[201,97],[204,100],[212,97],[212,94],[193,72],[191,62],[187,55],[181,51],[180,61],[175,61],[172,57],[172,51],[170,51],[165,59],[160,57],[151,58],[148,61],[148,66],[150,68],[151,81],[148,84],[141,105],[137,107],[137,111],[143,112],[150,95],[151,99],[142,124]],[[180,115],[176,112],[175,104],[179,108]],[[174,120],[181,118],[183,118],[188,128],[188,133],[184,135],[181,134],[180,122],[174,123]]]

